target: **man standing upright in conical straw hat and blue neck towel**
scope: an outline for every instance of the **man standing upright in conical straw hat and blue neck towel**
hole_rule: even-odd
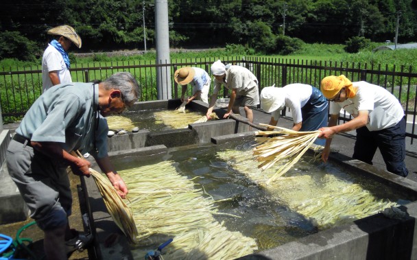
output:
[[[69,73],[69,56],[67,51],[71,45],[81,48],[81,38],[69,25],[60,25],[47,32],[54,38],[48,44],[42,57],[43,92],[51,86],[72,82]]]

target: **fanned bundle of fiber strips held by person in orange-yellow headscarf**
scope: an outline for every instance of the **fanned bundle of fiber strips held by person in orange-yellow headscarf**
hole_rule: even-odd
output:
[[[318,134],[320,134],[320,131],[298,132],[263,123],[260,123],[259,125],[274,128],[276,130],[255,132],[257,136],[279,135],[274,137],[257,137],[257,141],[261,144],[254,147],[253,154],[257,161],[261,162],[258,167],[265,170],[278,161],[280,163],[285,161],[285,163],[278,168],[276,174],[274,174],[266,184],[269,184],[288,172],[288,170],[300,160],[302,154],[305,154],[305,152],[309,150],[309,147],[313,145]]]

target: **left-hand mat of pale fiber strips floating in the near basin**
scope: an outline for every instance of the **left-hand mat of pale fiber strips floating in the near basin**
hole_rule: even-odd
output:
[[[228,231],[213,215],[212,198],[165,161],[119,172],[128,185],[138,243],[152,247],[170,238],[167,259],[235,259],[257,250],[254,239]],[[137,251],[143,259],[145,250]]]

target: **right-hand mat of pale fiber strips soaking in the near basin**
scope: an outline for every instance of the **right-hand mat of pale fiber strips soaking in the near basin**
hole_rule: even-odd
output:
[[[353,222],[390,206],[398,206],[390,200],[375,197],[359,184],[333,174],[312,176],[316,173],[300,175],[291,172],[290,176],[281,176],[270,185],[262,185],[274,175],[279,165],[261,171],[252,151],[225,150],[217,152],[216,156],[251,182],[260,184],[274,200],[305,216],[318,228]]]

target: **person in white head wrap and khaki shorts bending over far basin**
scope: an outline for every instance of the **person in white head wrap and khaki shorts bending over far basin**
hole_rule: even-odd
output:
[[[214,75],[214,90],[211,95],[210,104],[206,117],[211,119],[210,114],[217,100],[217,95],[222,85],[228,90],[231,89],[230,101],[224,118],[230,113],[240,114],[239,106],[243,106],[246,118],[253,123],[252,108],[259,105],[258,80],[250,70],[237,65],[224,65],[217,60],[211,65],[211,73]]]

